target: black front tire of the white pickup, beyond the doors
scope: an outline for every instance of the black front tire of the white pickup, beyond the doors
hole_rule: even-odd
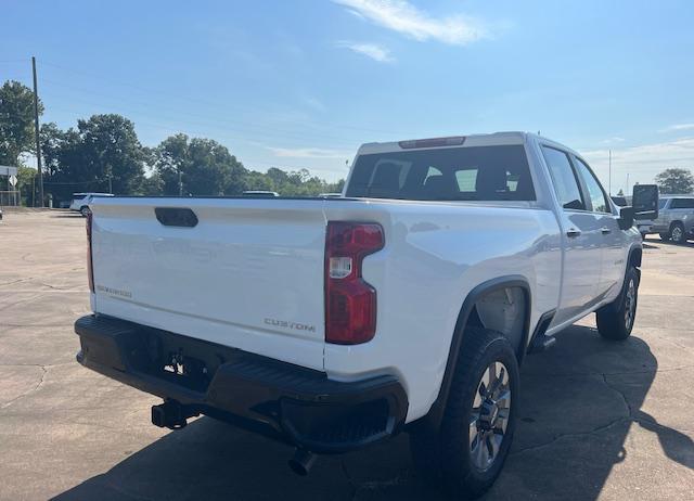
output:
[[[639,270],[629,267],[619,297],[599,309],[595,314],[600,335],[611,341],[624,341],[629,337],[637,318],[638,301]],[[630,316],[627,314],[627,309],[630,310]]]

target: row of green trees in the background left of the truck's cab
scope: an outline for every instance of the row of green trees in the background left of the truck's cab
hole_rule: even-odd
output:
[[[43,124],[40,136],[44,191],[55,206],[75,192],[233,196],[244,190],[271,190],[282,196],[314,196],[340,192],[344,184],[327,183],[306,169],[248,170],[222,144],[183,133],[146,147],[132,121],[115,114],[80,119],[67,130]],[[7,81],[0,88],[0,164],[18,165],[21,155],[34,149],[34,94],[20,82]],[[28,167],[20,170],[26,204],[31,203],[36,175]]]

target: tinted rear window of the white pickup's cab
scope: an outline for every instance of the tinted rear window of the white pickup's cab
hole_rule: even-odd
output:
[[[422,201],[534,201],[522,145],[360,155],[347,196]]]

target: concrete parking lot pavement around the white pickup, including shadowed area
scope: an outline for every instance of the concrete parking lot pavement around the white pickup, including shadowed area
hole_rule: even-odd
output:
[[[407,436],[300,478],[288,447],[215,420],[151,425],[156,398],[75,361],[85,243],[64,211],[0,223],[0,499],[439,499]],[[629,341],[602,341],[591,316],[526,359],[513,450],[486,499],[694,498],[693,284],[694,245],[648,240]]]

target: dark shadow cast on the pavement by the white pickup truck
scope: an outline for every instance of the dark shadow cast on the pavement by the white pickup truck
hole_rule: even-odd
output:
[[[515,499],[567,492],[574,499],[596,499],[613,466],[625,460],[625,439],[634,425],[656,434],[668,458],[693,467],[692,441],[640,410],[657,370],[646,343],[633,336],[605,342],[586,326],[569,327],[557,337],[553,350],[524,363],[514,447],[486,499],[509,499],[509,492]],[[55,499],[440,496],[416,480],[407,436],[343,458],[321,458],[306,478],[286,467],[291,453],[286,446],[202,418]]]

